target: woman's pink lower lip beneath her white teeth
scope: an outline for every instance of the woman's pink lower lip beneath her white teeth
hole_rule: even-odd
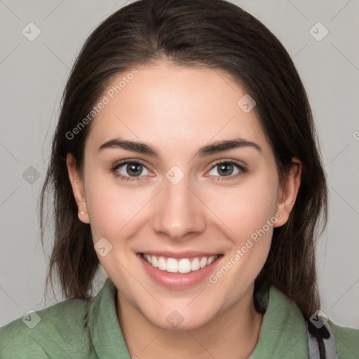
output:
[[[142,255],[138,254],[138,257],[152,280],[163,287],[182,290],[193,287],[194,285],[203,282],[203,280],[208,279],[214,270],[214,266],[217,265],[222,255],[219,255],[215,262],[212,262],[210,265],[198,269],[198,271],[191,271],[189,273],[169,273],[161,271],[161,269],[151,266]]]

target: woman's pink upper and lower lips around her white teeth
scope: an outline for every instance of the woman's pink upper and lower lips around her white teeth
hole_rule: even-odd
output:
[[[204,252],[182,252],[180,254],[170,253],[168,252],[145,252],[148,255],[158,255],[162,257],[171,257],[171,258],[191,258],[191,257],[206,257],[210,255],[218,255],[209,254]],[[161,253],[161,254],[158,254]],[[194,253],[196,255],[194,255]],[[198,253],[201,253],[197,255]],[[166,255],[165,255],[166,254]],[[191,255],[191,256],[189,256]],[[215,260],[215,262],[211,263],[204,268],[198,269],[198,271],[191,271],[189,273],[168,273],[166,271],[161,271],[154,266],[151,266],[144,258],[142,258],[142,253],[137,253],[137,257],[142,263],[144,270],[147,272],[151,280],[154,280],[155,283],[161,285],[162,287],[167,287],[172,290],[184,290],[190,287],[194,287],[199,283],[202,283],[204,280],[208,280],[210,274],[214,271],[214,267],[217,266],[219,261],[221,261],[223,255],[219,255],[219,257]]]

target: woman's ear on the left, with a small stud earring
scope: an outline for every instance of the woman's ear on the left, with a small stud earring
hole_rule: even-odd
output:
[[[67,172],[69,172],[69,179],[72,186],[72,191],[79,208],[79,219],[83,223],[90,223],[88,216],[88,208],[86,204],[85,190],[83,187],[83,180],[76,165],[76,161],[72,154],[67,154],[66,157]]]

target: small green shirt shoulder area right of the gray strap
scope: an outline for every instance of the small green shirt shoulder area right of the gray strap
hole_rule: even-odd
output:
[[[339,359],[359,358],[359,330],[330,323]]]

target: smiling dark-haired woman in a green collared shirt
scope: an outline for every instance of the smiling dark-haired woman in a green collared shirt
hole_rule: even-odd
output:
[[[359,331],[318,311],[327,188],[306,93],[241,8],[142,0],[97,27],[65,88],[42,228],[49,193],[48,278],[69,299],[1,328],[1,358],[359,355]]]

